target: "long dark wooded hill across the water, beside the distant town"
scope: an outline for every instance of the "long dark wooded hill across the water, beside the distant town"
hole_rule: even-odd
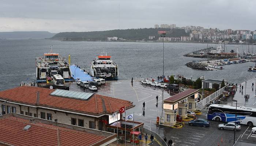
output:
[[[155,36],[157,40],[158,30],[166,30],[166,37],[188,36],[184,29],[154,29],[138,28],[126,30],[90,31],[90,32],[60,32],[52,37],[63,41],[107,41],[108,37],[118,37],[128,41],[148,40],[148,36]]]

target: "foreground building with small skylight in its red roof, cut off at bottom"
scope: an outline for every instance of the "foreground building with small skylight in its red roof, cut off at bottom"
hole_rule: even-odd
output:
[[[1,146],[106,146],[117,134],[35,117],[0,116]]]

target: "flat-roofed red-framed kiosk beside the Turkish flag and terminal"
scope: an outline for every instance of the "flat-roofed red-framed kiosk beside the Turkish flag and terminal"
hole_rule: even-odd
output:
[[[133,130],[139,131],[141,134],[143,134],[143,125],[144,123],[140,123],[140,122],[118,120],[117,122],[107,125],[106,128],[108,132],[117,133],[118,139],[124,139],[127,142],[130,142],[130,138],[132,137],[131,132]],[[125,133],[126,133],[126,138],[125,138]]]

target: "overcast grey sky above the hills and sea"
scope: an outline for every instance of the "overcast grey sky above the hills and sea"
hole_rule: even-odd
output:
[[[256,29],[255,0],[0,0],[0,31],[101,31],[176,24]]]

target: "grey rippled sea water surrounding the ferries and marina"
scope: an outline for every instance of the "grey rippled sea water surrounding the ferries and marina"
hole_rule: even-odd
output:
[[[61,42],[45,39],[30,40],[0,40],[0,91],[17,87],[27,78],[35,78],[35,57],[49,52],[63,57],[71,55],[71,64],[78,64],[89,71],[90,62],[103,49],[112,56],[118,64],[119,79],[127,80],[132,77],[157,77],[162,74],[162,43],[138,42]],[[165,75],[182,74],[185,77],[225,79],[229,82],[240,83],[256,77],[254,72],[248,72],[253,62],[225,65],[224,70],[203,71],[192,70],[185,66],[187,62],[199,60],[183,55],[195,48],[204,48],[207,44],[200,43],[165,43]],[[211,46],[215,46],[211,44]],[[234,45],[227,49],[236,51]],[[241,51],[240,51],[241,52]]]

